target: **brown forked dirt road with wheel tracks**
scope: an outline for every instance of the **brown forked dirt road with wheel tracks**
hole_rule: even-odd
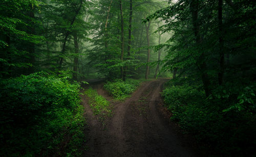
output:
[[[86,96],[81,96],[89,125],[83,156],[198,156],[193,142],[169,121],[160,96],[166,81],[143,82],[124,102],[113,100],[103,83],[92,83],[111,102],[113,115],[102,122],[93,115]]]

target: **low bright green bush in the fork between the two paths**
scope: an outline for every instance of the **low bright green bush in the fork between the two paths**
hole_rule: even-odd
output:
[[[124,100],[125,98],[130,97],[139,83],[139,80],[134,79],[128,79],[125,82],[117,80],[115,82],[107,82],[104,84],[104,88],[113,96],[114,99]]]

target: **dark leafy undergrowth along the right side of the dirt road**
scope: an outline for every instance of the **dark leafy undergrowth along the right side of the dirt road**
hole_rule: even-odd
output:
[[[167,86],[162,96],[173,114],[172,120],[193,134],[199,142],[210,146],[216,154],[249,156],[253,154],[253,146],[256,144],[256,117],[250,103],[254,100],[252,88],[245,87],[240,92],[234,91],[235,94],[229,90],[227,92],[227,89],[222,94],[212,91],[211,99],[205,99],[204,93],[198,90],[199,87],[184,84]],[[247,100],[244,101],[246,105],[240,104],[242,110],[232,107],[233,105],[225,110],[230,104],[240,103],[242,95]]]

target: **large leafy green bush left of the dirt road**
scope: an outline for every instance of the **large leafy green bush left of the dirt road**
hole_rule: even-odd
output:
[[[0,155],[79,155],[84,141],[78,84],[35,73],[0,83]]]

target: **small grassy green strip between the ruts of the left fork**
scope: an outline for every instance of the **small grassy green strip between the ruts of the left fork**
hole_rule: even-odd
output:
[[[112,111],[110,109],[110,102],[106,100],[103,96],[98,95],[97,91],[89,88],[84,92],[86,96],[89,97],[89,104],[92,107],[93,113],[95,115],[111,116]]]

